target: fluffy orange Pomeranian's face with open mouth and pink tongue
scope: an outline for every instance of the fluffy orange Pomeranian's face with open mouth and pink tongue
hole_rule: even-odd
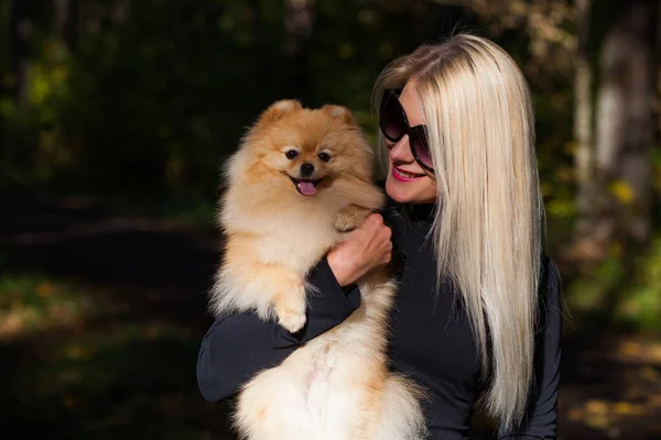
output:
[[[369,145],[349,110],[339,106],[310,110],[297,101],[278,101],[262,113],[243,147],[251,162],[247,174],[285,180],[305,197],[327,190],[338,178],[371,178]]]

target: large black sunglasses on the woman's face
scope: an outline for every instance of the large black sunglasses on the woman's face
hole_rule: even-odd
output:
[[[390,142],[399,142],[409,135],[409,145],[415,162],[426,172],[434,174],[434,162],[427,143],[425,125],[409,125],[407,112],[399,101],[402,89],[386,89],[379,108],[379,128]]]

